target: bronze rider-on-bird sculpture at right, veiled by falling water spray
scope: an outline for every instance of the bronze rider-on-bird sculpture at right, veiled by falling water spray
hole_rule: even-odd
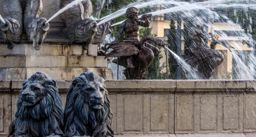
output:
[[[194,27],[189,31],[189,42],[192,45],[184,50],[184,54],[186,55],[185,61],[197,69],[200,79],[209,79],[212,76],[212,72],[224,60],[223,54],[219,50],[215,50],[216,44],[221,44],[229,50],[234,47],[226,41],[214,39],[213,35],[210,33],[212,43],[209,48],[208,45],[206,46],[203,42],[204,39],[209,38],[209,35],[205,35],[200,30],[203,25],[202,18],[195,18],[193,25]]]

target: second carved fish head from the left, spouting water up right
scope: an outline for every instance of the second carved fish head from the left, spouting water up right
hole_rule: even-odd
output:
[[[50,25],[46,18],[39,17],[32,19],[26,26],[26,36],[28,42],[35,43],[34,47],[40,49],[40,44],[43,43],[46,35],[49,32]]]

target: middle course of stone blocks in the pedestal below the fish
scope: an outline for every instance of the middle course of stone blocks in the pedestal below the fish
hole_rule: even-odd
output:
[[[104,56],[0,56],[0,68],[107,67]]]

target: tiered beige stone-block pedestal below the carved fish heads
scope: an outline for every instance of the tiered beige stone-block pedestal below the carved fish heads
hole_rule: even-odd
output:
[[[0,79],[28,79],[37,71],[53,79],[74,79],[85,71],[113,79],[107,60],[97,56],[97,45],[83,49],[81,45],[43,43],[36,50],[31,44],[17,44],[13,49],[0,44]]]

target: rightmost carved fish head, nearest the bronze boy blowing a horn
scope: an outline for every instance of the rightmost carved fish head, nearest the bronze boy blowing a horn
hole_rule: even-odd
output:
[[[100,22],[101,20],[98,20],[97,22]],[[92,39],[92,44],[100,46],[100,44],[105,40],[105,37],[107,34],[111,33],[111,22],[105,22],[98,26],[98,30],[96,32],[96,35]]]

